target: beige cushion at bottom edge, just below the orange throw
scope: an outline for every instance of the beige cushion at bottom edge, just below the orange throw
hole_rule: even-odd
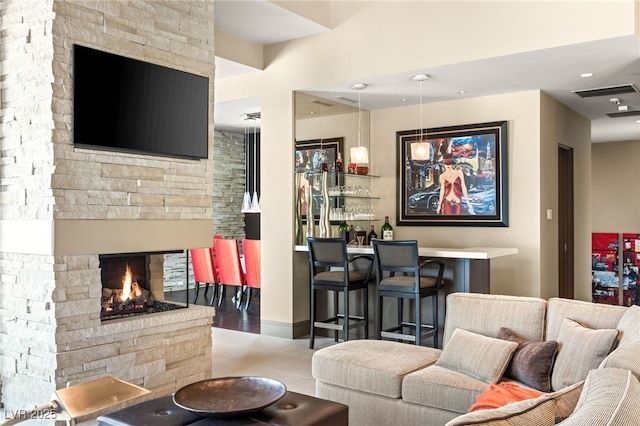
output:
[[[512,402],[500,408],[459,416],[446,426],[546,426],[573,412],[583,382],[534,399]]]

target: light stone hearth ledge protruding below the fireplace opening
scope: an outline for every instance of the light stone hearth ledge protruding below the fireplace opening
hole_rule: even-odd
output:
[[[112,375],[158,397],[208,379],[214,315],[213,307],[190,305],[62,333],[58,345],[65,351],[58,354],[58,367],[70,372],[65,385]]]

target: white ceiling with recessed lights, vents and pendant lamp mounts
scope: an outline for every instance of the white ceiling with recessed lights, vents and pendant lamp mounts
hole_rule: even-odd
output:
[[[259,44],[285,41],[327,30],[264,0],[216,0],[215,15],[217,30]],[[216,59],[216,78],[246,72],[259,71],[221,58]],[[594,76],[579,77],[585,72],[594,73]],[[640,123],[636,122],[640,120],[640,115],[624,118],[609,118],[606,115],[618,111],[619,106],[610,101],[613,96],[583,99],[572,93],[575,90],[624,84],[633,84],[640,89],[640,41],[633,36],[437,68],[407,70],[405,73],[364,81],[336,82],[328,86],[308,88],[303,92],[326,99],[330,103],[355,106],[358,93],[351,89],[351,85],[366,83],[367,89],[360,92],[363,109],[394,108],[420,102],[420,84],[411,79],[417,73],[430,76],[422,85],[424,103],[542,90],[592,120],[592,142],[640,140]],[[459,91],[465,93],[460,94]],[[640,93],[616,97],[621,100],[620,106],[640,112]],[[307,106],[308,103],[305,104]],[[246,124],[244,114],[258,111],[260,105],[257,98],[216,103],[216,128],[238,131],[238,127]],[[254,121],[250,126],[259,126],[259,120],[258,123]]]

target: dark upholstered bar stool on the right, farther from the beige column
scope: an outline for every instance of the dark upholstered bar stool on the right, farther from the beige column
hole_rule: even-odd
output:
[[[373,241],[378,288],[377,336],[422,344],[422,339],[433,337],[433,347],[438,346],[438,290],[443,288],[444,262],[420,260],[417,241]],[[437,277],[422,276],[423,269],[437,266]],[[382,301],[395,297],[398,301],[398,318],[395,325],[382,328]],[[431,297],[433,318],[431,324],[422,322],[422,299]],[[415,303],[415,322],[404,319],[403,301]],[[426,332],[424,332],[426,330]],[[413,331],[409,334],[405,331]]]

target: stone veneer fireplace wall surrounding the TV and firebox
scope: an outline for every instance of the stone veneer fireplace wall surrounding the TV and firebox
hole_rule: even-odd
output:
[[[99,255],[210,243],[213,123],[200,161],[74,148],[72,46],[207,76],[213,117],[213,0],[25,0],[0,13],[1,408],[105,375],[150,397],[210,377],[214,309],[101,321]]]

